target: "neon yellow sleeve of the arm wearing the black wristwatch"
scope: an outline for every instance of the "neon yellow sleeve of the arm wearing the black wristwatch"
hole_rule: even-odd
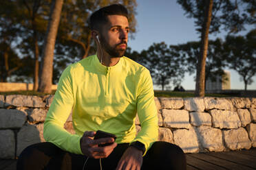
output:
[[[153,82],[147,69],[142,71],[138,82],[137,112],[141,130],[134,141],[140,141],[145,145],[146,154],[153,142],[158,140],[158,114],[154,100]]]

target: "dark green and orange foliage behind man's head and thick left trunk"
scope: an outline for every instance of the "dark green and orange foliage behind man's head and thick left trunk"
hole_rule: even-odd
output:
[[[1,57],[1,75],[3,75],[4,71],[4,74],[8,75],[9,81],[32,82],[35,65],[34,40],[37,40],[40,55],[50,16],[50,3],[50,0],[11,0],[1,2],[0,49],[6,49],[6,45],[10,47],[10,51],[8,51],[10,53],[8,59],[8,64],[10,65],[9,74],[5,69],[6,66],[3,66],[5,62]],[[133,33],[136,32],[136,0],[64,1],[54,51],[54,83],[58,82],[58,77],[67,65],[96,52],[87,20],[92,12],[111,3],[122,3],[127,7],[132,38]],[[15,53],[16,57],[13,57],[11,51]],[[4,51],[1,51],[0,55],[3,56],[3,53]],[[17,68],[18,64],[19,69],[15,69],[10,73],[10,70]]]

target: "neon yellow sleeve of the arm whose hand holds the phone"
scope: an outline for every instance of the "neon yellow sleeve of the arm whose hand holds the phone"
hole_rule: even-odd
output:
[[[80,147],[81,136],[70,134],[63,127],[75,101],[71,68],[72,66],[68,66],[60,77],[54,99],[47,112],[43,136],[45,141],[54,143],[54,145],[65,151],[82,154]]]

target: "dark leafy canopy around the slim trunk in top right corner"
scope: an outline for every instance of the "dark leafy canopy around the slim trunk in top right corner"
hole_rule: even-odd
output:
[[[177,0],[186,16],[195,19],[196,30],[202,32],[206,0]],[[209,33],[220,32],[220,28],[229,32],[244,30],[245,24],[256,22],[256,3],[251,0],[214,0]]]

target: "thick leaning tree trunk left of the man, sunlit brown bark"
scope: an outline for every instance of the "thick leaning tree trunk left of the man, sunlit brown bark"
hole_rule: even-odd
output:
[[[61,8],[63,0],[52,1],[50,20],[48,22],[47,33],[43,45],[42,73],[40,76],[39,91],[43,93],[52,92],[52,72],[54,45],[58,32],[58,24],[61,19]]]

